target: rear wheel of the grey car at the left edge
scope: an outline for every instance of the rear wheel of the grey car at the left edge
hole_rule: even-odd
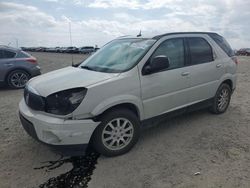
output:
[[[30,79],[30,75],[23,70],[14,70],[7,76],[7,84],[12,89],[21,89]]]

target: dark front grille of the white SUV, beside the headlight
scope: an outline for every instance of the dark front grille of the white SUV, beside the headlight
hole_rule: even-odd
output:
[[[45,110],[45,98],[30,92],[28,88],[24,89],[24,100],[27,106],[33,110]]]

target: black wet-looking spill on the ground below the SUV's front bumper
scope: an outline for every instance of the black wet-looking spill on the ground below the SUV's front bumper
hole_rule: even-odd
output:
[[[85,156],[75,156],[57,161],[47,161],[47,165],[34,168],[53,170],[65,163],[72,163],[73,168],[64,174],[50,178],[39,188],[86,188],[91,179],[91,175],[95,169],[99,154],[91,149],[87,149]]]

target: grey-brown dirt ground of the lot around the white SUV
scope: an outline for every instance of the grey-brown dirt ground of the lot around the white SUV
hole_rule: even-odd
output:
[[[71,65],[68,54],[33,53],[42,72]],[[74,61],[85,57],[74,55]],[[228,111],[206,110],[163,121],[142,132],[127,154],[99,157],[89,188],[250,187],[250,58],[240,57],[237,89]],[[72,168],[35,170],[60,156],[20,125],[22,90],[0,89],[0,187],[38,187]],[[198,175],[195,175],[199,172]]]

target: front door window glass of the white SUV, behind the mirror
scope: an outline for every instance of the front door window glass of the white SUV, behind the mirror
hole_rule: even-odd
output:
[[[164,55],[169,60],[169,68],[175,69],[184,66],[184,45],[182,38],[168,39],[162,42],[153,53],[151,60],[156,56]]]

